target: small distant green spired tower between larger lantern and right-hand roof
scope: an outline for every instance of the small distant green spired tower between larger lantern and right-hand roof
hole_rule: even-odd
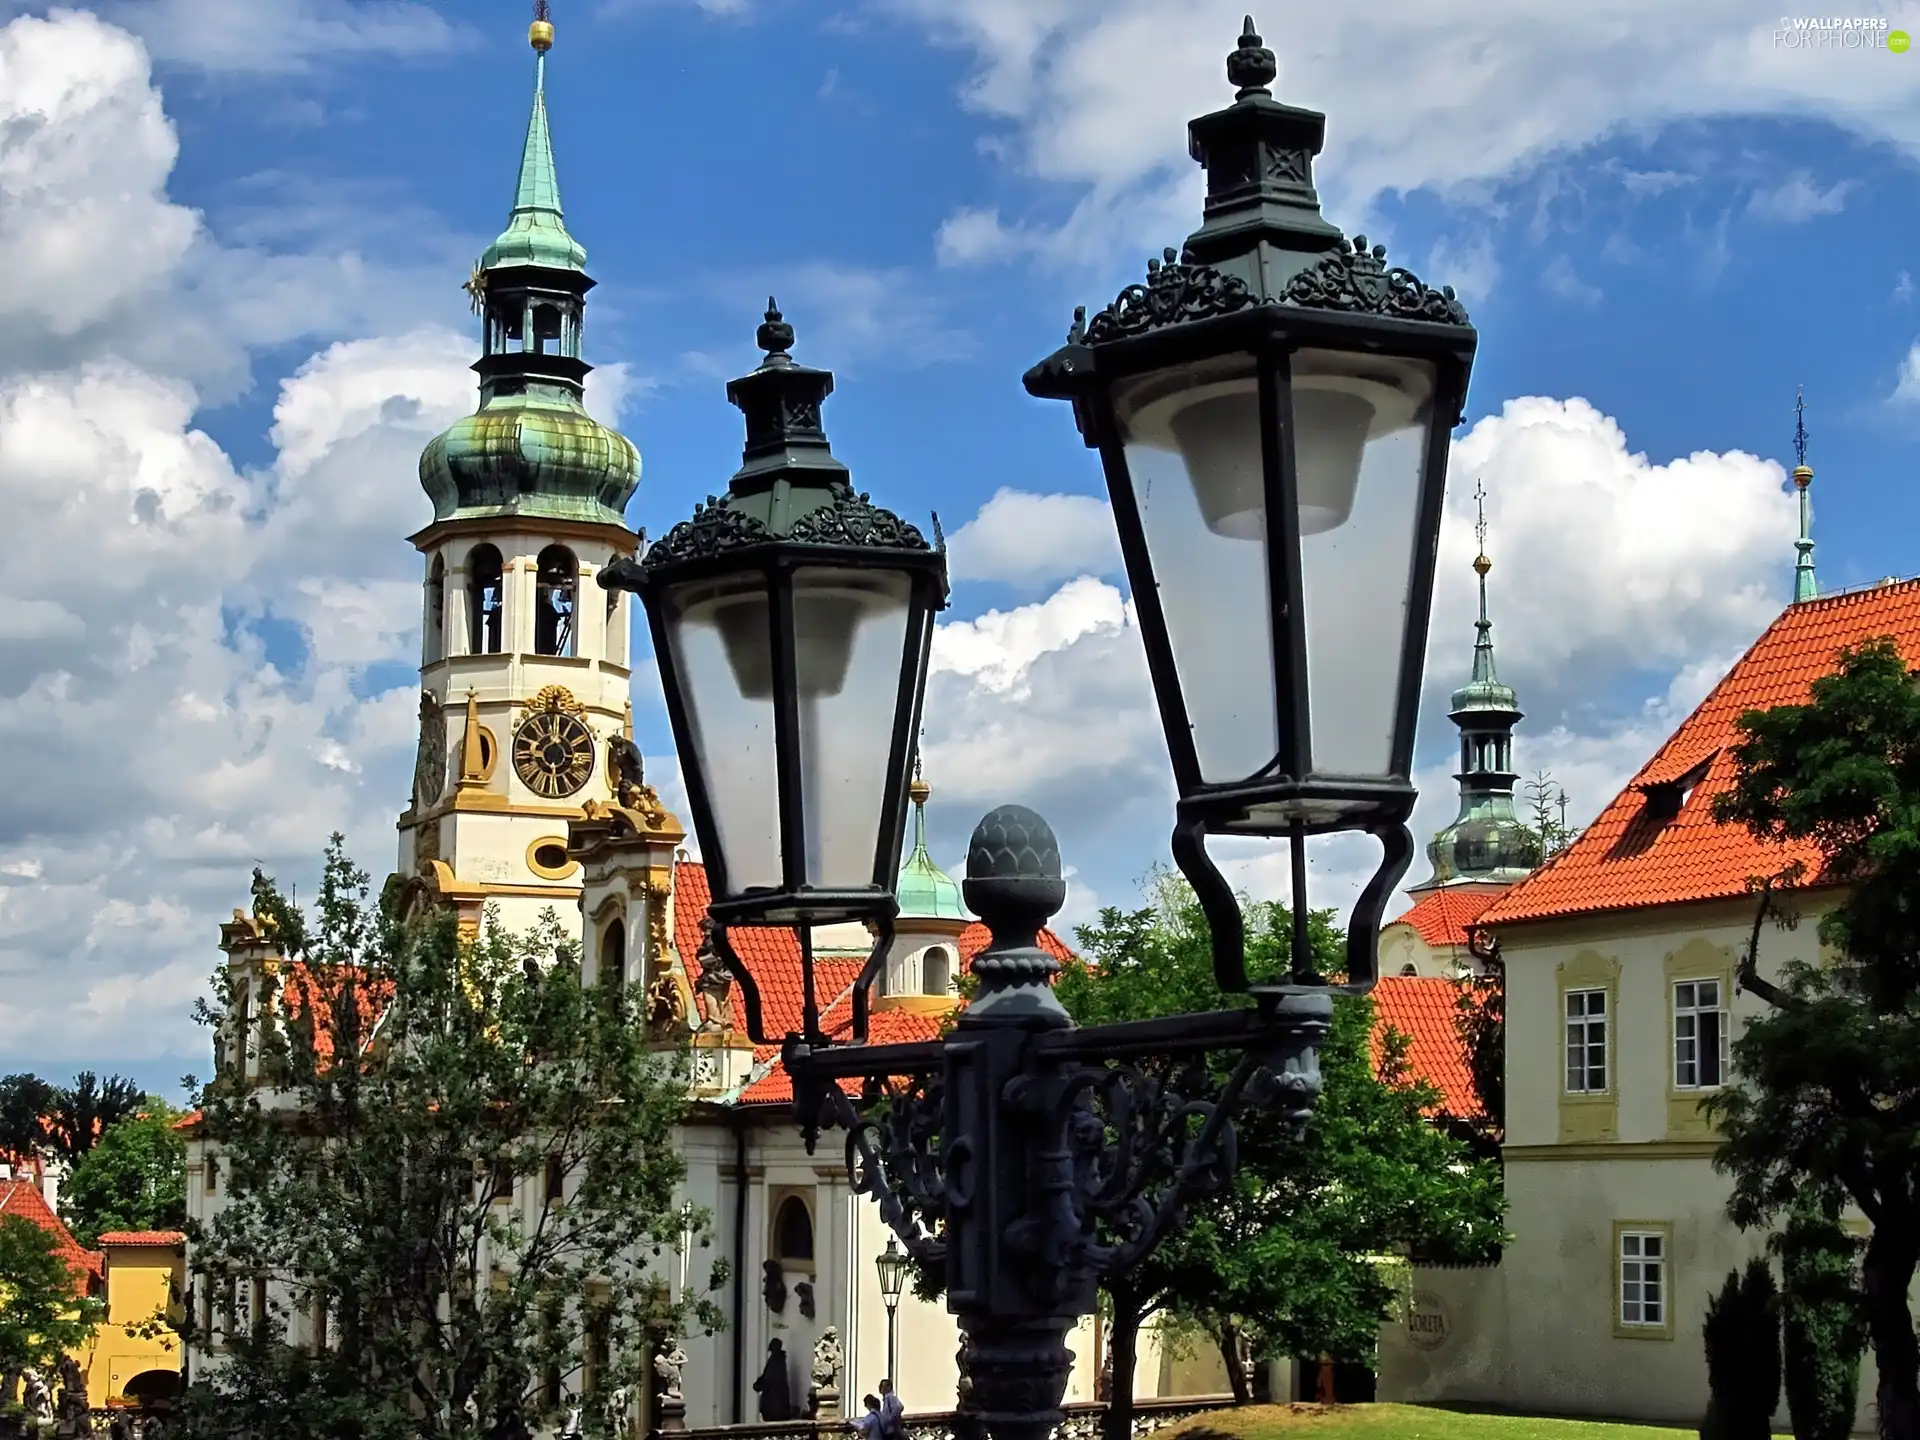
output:
[[[1484,501],[1484,492],[1475,492]],[[1475,522],[1480,553],[1480,618],[1475,622],[1473,678],[1453,691],[1450,718],[1459,726],[1459,814],[1427,847],[1432,877],[1411,895],[1442,885],[1511,885],[1540,864],[1540,835],[1513,814],[1513,726],[1523,720],[1513,685],[1494,672],[1494,622],[1486,618],[1486,511]]]

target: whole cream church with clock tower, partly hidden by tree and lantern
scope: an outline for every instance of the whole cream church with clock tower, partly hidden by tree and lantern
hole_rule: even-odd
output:
[[[626,524],[639,453],[584,407],[589,367],[580,340],[593,280],[561,215],[545,102],[551,27],[536,25],[532,38],[540,83],[513,219],[467,284],[484,328],[474,365],[480,407],[420,457],[434,513],[411,536],[424,586],[420,735],[397,822],[396,881],[417,902],[451,906],[467,933],[488,912],[509,929],[530,927],[547,908],[578,914],[584,979],[643,991],[645,1023],[662,1050],[691,1050],[691,1108],[680,1133],[685,1200],[710,1215],[714,1250],[660,1263],[670,1283],[684,1284],[695,1267],[703,1279],[718,1252],[732,1283],[714,1296],[726,1329],[682,1340],[685,1423],[758,1419],[753,1382],[774,1340],[789,1357],[789,1392],[804,1405],[808,1359],[828,1327],[845,1354],[839,1390],[856,1405],[887,1369],[889,1311],[874,1263],[887,1233],[876,1208],[852,1194],[831,1137],[806,1154],[778,1050],[747,1041],[724,985],[701,987],[707,876],[632,745],[634,601],[593,584],[607,563],[639,547]],[[987,943],[960,887],[927,856],[927,795],[916,781],[914,849],[876,998],[876,1039],[935,1035],[958,1004],[968,960]],[[797,939],[762,931],[755,941],[772,947],[749,956],[766,1031],[797,1029]],[[1044,941],[1066,954],[1056,937]],[[273,956],[267,935],[238,910],[221,945],[242,972]],[[814,937],[829,1031],[849,1021],[847,993],[868,945],[864,929]],[[244,1023],[273,1023],[265,1010],[255,1006]],[[532,1210],[540,1200],[524,1188],[516,1202]],[[188,1212],[205,1221],[223,1200],[219,1156],[188,1129]],[[190,1373],[217,1365],[221,1350],[211,1304],[205,1296],[194,1304],[204,1323]],[[244,1313],[236,1323],[246,1325]],[[317,1338],[300,1327],[296,1313],[292,1342]],[[950,1409],[952,1319],[908,1292],[897,1327],[895,1380],[906,1405]],[[1098,1338],[1087,1321],[1073,1340],[1069,1402],[1094,1398]],[[1225,1388],[1217,1369],[1217,1361],[1179,1365],[1148,1334],[1135,1394],[1217,1392]],[[566,1386],[578,1392],[582,1377]]]

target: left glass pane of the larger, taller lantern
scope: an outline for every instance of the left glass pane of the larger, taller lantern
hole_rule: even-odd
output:
[[[1254,357],[1217,355],[1123,380],[1114,419],[1200,778],[1246,780],[1281,749]]]

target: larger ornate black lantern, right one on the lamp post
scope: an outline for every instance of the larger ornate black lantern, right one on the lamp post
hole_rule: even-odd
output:
[[[1327,117],[1283,106],[1254,21],[1235,104],[1188,127],[1204,223],[1146,282],[1027,372],[1100,451],[1179,785],[1173,851],[1248,989],[1240,910],[1206,835],[1292,841],[1294,985],[1306,837],[1369,831],[1384,856],[1348,927],[1348,987],[1413,854],[1419,708],[1450,434],[1475,330],[1448,290],[1388,269],[1319,213]],[[1288,989],[1288,987],[1281,987]]]

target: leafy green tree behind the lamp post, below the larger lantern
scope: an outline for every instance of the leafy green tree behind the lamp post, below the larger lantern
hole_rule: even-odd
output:
[[[1152,904],[1102,910],[1077,931],[1056,993],[1083,1025],[1231,1004],[1213,985],[1206,918],[1185,881],[1160,872]],[[1286,968],[1292,918],[1248,908],[1248,972]],[[1329,912],[1309,916],[1317,968],[1338,973],[1344,939]],[[1256,1359],[1331,1352],[1367,1359],[1396,1292],[1373,1256],[1486,1256],[1500,1244],[1498,1169],[1428,1121],[1432,1089],[1407,1073],[1405,1037],[1373,1058],[1373,1006],[1342,998],[1321,1048],[1325,1089],[1304,1135],[1254,1108],[1236,1121],[1240,1171],[1188,1208],[1177,1235],[1127,1273],[1102,1279],[1112,1304],[1114,1388],[1108,1434],[1131,1425],[1140,1325],[1167,1311],[1202,1325],[1246,1398],[1242,1344]],[[1215,1062],[1215,1075],[1233,1058]]]

